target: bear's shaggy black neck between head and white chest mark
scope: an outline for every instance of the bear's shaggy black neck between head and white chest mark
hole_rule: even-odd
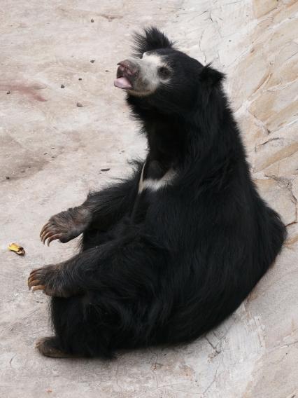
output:
[[[170,168],[191,170],[204,179],[215,170],[215,165],[221,167],[241,158],[239,153],[244,152],[239,130],[225,97],[218,98],[211,95],[207,104],[171,115],[129,98],[148,139],[146,168],[162,170],[159,176]]]

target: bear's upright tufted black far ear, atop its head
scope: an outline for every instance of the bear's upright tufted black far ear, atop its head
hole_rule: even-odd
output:
[[[143,53],[159,48],[173,48],[173,42],[162,33],[157,27],[144,29],[143,34],[134,34],[134,55],[141,57]]]

